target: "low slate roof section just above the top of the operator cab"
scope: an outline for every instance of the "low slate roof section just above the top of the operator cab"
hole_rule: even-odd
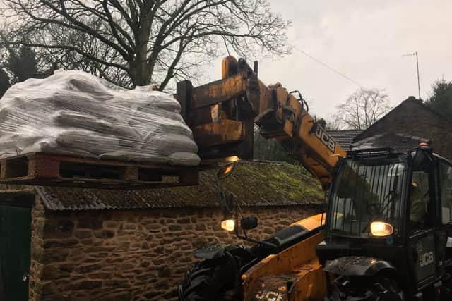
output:
[[[352,150],[391,147],[396,152],[408,152],[417,147],[420,142],[430,143],[430,140],[403,133],[384,133],[354,142],[350,147]]]

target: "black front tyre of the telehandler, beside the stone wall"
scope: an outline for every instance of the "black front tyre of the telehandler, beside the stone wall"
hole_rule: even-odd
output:
[[[187,271],[184,283],[179,284],[181,301],[237,300],[233,264],[228,260],[206,260]]]

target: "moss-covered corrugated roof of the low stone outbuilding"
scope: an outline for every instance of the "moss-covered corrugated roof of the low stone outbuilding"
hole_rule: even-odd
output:
[[[191,187],[129,191],[35,187],[35,191],[44,206],[55,211],[216,207],[214,175],[213,170],[202,171],[199,185]],[[0,194],[7,192],[0,189]],[[244,207],[321,204],[323,199],[311,174],[302,166],[282,162],[239,162],[232,176],[220,180],[220,189],[233,192]]]

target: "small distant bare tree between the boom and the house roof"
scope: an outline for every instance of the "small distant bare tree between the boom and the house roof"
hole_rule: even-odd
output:
[[[337,109],[335,123],[364,130],[383,117],[391,106],[388,94],[384,90],[360,88],[350,95],[344,104],[337,106]]]

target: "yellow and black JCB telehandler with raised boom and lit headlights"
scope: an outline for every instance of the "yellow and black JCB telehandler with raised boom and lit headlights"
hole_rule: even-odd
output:
[[[267,87],[257,69],[230,56],[222,80],[178,84],[203,162],[250,159],[256,123],[319,180],[326,213],[259,241],[246,235],[257,218],[240,216],[232,194],[222,194],[222,227],[255,245],[196,250],[203,261],[187,271],[179,300],[452,300],[451,163],[428,145],[347,153],[299,92]]]

